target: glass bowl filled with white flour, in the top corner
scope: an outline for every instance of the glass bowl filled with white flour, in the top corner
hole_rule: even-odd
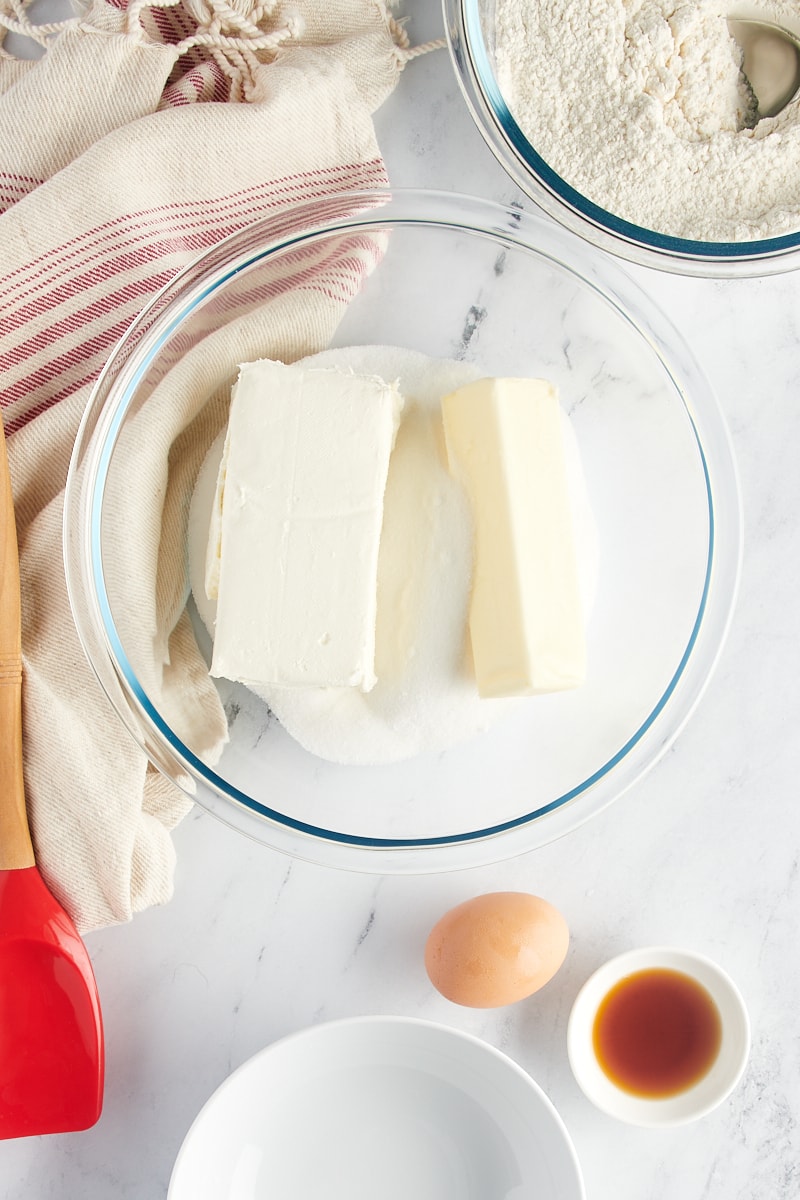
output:
[[[444,10],[477,127],[515,182],[569,229],[686,275],[800,263],[794,0],[444,0]],[[771,43],[786,49],[790,77],[775,115],[760,115],[729,18],[789,38]],[[753,58],[753,79],[757,68]]]

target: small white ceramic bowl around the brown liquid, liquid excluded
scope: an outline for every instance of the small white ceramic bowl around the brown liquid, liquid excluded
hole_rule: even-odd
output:
[[[593,1039],[597,1010],[610,989],[651,968],[678,971],[700,984],[714,1001],[721,1025],[720,1048],[706,1074],[685,1091],[663,1098],[634,1096],[612,1082],[597,1061]],[[716,962],[690,950],[645,947],[606,962],[583,985],[570,1014],[567,1052],[582,1091],[603,1112],[637,1126],[684,1124],[715,1109],[741,1079],[750,1054],[750,1019],[738,988]]]

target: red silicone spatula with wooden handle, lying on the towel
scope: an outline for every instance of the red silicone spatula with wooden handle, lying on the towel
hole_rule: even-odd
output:
[[[86,948],[44,886],[25,811],[19,559],[0,428],[0,1138],[88,1129],[103,1026]]]

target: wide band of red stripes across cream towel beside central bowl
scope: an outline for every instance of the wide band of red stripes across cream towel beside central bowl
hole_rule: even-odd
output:
[[[385,182],[381,160],[299,172],[218,200],[176,202],[116,217],[11,272],[0,280],[0,402],[5,409],[13,406],[7,431],[96,379],[136,313],[199,252],[267,214],[278,216],[276,238],[290,234],[296,210],[289,200],[335,200],[342,191]],[[251,289],[237,302],[270,299],[290,287],[349,300],[375,248],[366,235],[348,242],[339,240],[321,262],[319,247],[297,247],[285,256],[285,278],[261,284],[260,294]]]

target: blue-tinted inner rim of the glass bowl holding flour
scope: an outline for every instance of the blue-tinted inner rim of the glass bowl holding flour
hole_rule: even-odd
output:
[[[594,224],[608,229],[625,241],[639,242],[650,250],[676,254],[680,258],[744,260],[769,258],[772,254],[781,254],[800,247],[800,232],[782,234],[780,238],[762,238],[756,241],[693,241],[688,238],[674,238],[624,221],[577,192],[536,152],[511,115],[494,76],[492,60],[486,47],[479,4],[480,0],[462,0],[467,49],[476,80],[504,137],[527,168],[560,200]]]

